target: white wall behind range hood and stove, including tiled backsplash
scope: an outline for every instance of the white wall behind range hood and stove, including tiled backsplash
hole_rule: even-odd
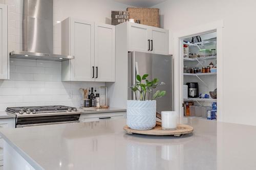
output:
[[[0,0],[9,9],[9,51],[22,51],[22,0]],[[61,21],[69,16],[110,23],[111,10],[125,10],[111,0],[54,0],[54,52],[61,52]],[[10,80],[0,80],[0,111],[10,106],[68,105],[80,106],[80,87],[99,87],[105,83],[61,82],[60,62],[10,60]]]

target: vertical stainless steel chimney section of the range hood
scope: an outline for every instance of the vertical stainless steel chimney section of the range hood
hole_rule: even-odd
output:
[[[53,53],[53,0],[23,1],[23,51]]]

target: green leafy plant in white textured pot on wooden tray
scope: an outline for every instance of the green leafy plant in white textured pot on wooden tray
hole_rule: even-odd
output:
[[[127,101],[127,126],[131,129],[146,130],[156,126],[156,100],[165,95],[166,91],[157,90],[153,96],[153,89],[164,85],[159,79],[147,80],[148,74],[137,75],[136,82],[131,87],[135,100]],[[152,99],[151,99],[152,96]]]

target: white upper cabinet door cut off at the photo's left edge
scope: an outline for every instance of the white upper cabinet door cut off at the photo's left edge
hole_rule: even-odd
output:
[[[0,79],[8,79],[7,6],[0,4]]]

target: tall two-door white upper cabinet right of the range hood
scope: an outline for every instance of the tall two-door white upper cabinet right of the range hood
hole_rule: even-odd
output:
[[[62,81],[115,81],[115,26],[67,18],[61,22]]]

